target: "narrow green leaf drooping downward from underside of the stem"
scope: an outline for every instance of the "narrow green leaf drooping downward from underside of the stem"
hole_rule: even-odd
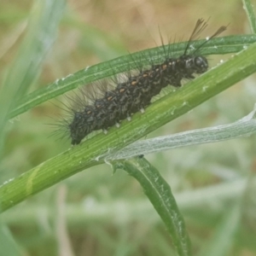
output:
[[[172,242],[178,255],[191,255],[189,235],[185,228],[183,216],[177,208],[169,184],[160,176],[160,172],[151,166],[147,160],[139,157],[114,162],[113,167],[115,169],[121,168],[137,179],[149,201],[166,224],[166,229],[172,236]]]

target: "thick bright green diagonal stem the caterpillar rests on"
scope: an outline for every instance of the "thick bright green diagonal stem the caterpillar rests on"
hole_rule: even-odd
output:
[[[26,197],[49,188],[90,166],[103,163],[112,151],[124,148],[172,119],[189,112],[255,71],[256,44],[253,44],[174,93],[160,98],[149,106],[145,113],[134,114],[131,122],[125,120],[119,129],[110,128],[108,136],[100,133],[91,137],[81,145],[3,184],[0,187],[1,210],[15,206]]]

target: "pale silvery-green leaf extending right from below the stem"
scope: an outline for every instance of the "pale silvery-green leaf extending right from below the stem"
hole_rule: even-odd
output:
[[[218,143],[237,137],[249,137],[256,132],[256,104],[251,113],[228,125],[218,125],[193,131],[183,131],[162,137],[139,140],[108,155],[108,160],[122,160],[139,154],[151,154],[171,148],[202,143]]]

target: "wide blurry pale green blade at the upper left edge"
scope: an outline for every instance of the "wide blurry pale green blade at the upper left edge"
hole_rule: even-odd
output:
[[[15,59],[9,65],[0,92],[0,155],[7,113],[10,108],[15,107],[37,78],[45,55],[55,40],[65,3],[66,0],[38,0],[32,7],[26,36]]]

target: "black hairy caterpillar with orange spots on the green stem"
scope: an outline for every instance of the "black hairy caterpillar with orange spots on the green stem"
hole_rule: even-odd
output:
[[[191,42],[206,26],[207,22],[197,20],[186,49],[178,58],[170,57],[168,52],[165,61],[157,65],[152,63],[145,70],[141,68],[136,75],[129,73],[124,82],[115,81],[113,90],[102,90],[102,97],[92,99],[90,104],[84,102],[84,96],[73,100],[79,105],[79,110],[69,110],[70,118],[62,122],[72,139],[71,143],[79,144],[92,131],[107,131],[108,127],[119,125],[121,120],[131,119],[132,113],[143,112],[151,99],[167,85],[180,87],[182,79],[195,79],[193,74],[207,72],[207,58],[200,55],[199,51],[210,39],[224,32],[226,26],[219,27],[211,38],[188,54]]]

